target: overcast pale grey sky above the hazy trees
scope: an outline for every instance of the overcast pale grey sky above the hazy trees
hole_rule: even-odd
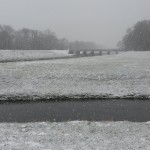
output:
[[[51,29],[71,41],[115,47],[126,29],[150,19],[150,0],[0,0],[0,23]]]

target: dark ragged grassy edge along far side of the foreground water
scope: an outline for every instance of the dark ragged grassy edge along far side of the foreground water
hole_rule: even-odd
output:
[[[53,94],[1,94],[0,102],[26,102],[26,101],[87,101],[87,100],[150,100],[150,95],[142,95],[142,94],[129,94],[124,96],[114,96],[112,94],[100,94],[100,95],[92,95],[92,94],[68,94],[68,95],[53,95]]]

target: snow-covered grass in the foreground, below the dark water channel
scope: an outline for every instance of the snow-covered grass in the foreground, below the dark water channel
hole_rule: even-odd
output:
[[[2,123],[1,150],[149,150],[150,123]]]

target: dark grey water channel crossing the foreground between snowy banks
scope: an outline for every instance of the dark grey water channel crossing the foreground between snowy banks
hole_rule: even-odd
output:
[[[0,122],[150,121],[150,101],[96,100],[0,103]]]

